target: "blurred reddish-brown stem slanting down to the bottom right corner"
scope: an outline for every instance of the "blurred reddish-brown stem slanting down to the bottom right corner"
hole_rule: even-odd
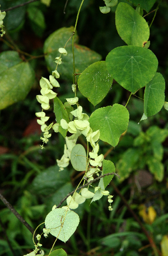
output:
[[[119,189],[115,186],[114,182],[111,181],[110,182],[111,185],[113,186],[114,190],[116,191],[116,193],[120,196],[120,198],[123,200],[124,204],[127,206],[129,212],[133,215],[134,219],[136,219],[136,221],[138,222],[139,226],[142,228],[142,231],[144,232],[144,234],[146,235],[148,241],[151,244],[151,247],[155,253],[155,255],[162,255],[160,250],[158,250],[155,242],[153,241],[152,237],[149,235],[148,231],[146,230],[146,228],[143,226],[142,222],[140,221],[140,219],[138,218],[137,214],[134,213],[134,211],[132,210],[132,208],[130,208],[129,204],[127,203],[127,200],[125,199],[125,197],[120,193]]]

